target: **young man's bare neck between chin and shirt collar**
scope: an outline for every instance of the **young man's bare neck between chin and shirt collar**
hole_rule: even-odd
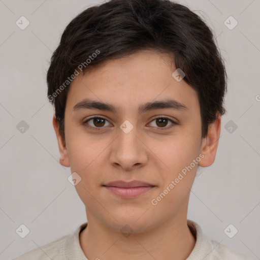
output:
[[[80,245],[88,259],[172,259],[174,255],[175,259],[185,260],[195,243],[186,217],[167,220],[128,237],[88,217],[87,228],[80,233]]]

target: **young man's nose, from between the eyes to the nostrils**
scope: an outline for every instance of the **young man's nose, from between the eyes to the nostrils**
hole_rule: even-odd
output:
[[[141,168],[148,162],[148,148],[136,127],[127,134],[119,128],[118,137],[111,144],[111,149],[111,165],[124,171]]]

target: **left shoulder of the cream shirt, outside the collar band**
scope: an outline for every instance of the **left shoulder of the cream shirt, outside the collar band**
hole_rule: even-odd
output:
[[[13,260],[58,260],[66,259],[66,252],[64,251],[64,243],[70,235],[63,236],[49,244],[38,247],[34,250],[26,252]]]

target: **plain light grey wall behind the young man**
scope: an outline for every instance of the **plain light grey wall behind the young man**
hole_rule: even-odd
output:
[[[66,25],[98,3],[0,0],[1,259],[70,234],[86,222],[84,205],[67,179],[70,168],[58,162],[46,72]],[[210,238],[260,259],[260,1],[179,3],[203,15],[213,28],[229,76],[228,112],[222,117],[216,160],[198,170],[188,219]],[[30,22],[24,30],[16,25],[21,16]],[[224,24],[230,16],[238,21],[232,30]],[[16,128],[21,120],[29,125],[24,133]],[[230,120],[237,125],[233,133]],[[23,239],[15,232],[21,224],[30,230]],[[238,229],[232,239],[224,233],[229,224]]]

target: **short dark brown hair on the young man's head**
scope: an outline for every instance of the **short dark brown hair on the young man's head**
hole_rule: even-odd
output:
[[[142,49],[169,53],[175,67],[185,73],[184,80],[199,95],[202,138],[207,136],[208,126],[218,114],[225,113],[226,92],[224,63],[211,29],[187,7],[169,0],[111,0],[76,16],[64,30],[51,57],[48,98],[64,140],[69,76],[77,68],[82,67],[84,73],[109,58]],[[99,55],[92,55],[97,51]]]

